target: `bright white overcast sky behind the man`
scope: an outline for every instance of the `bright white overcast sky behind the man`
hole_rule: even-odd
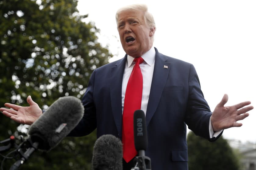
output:
[[[79,0],[80,14],[89,14],[85,22],[95,22],[101,30],[99,42],[115,55],[110,62],[125,55],[116,11],[136,3],[147,4],[155,18],[158,51],[195,66],[212,111],[225,93],[226,106],[249,100],[256,107],[255,0]],[[224,138],[256,142],[256,108],[249,113],[240,121],[243,126],[225,130]]]

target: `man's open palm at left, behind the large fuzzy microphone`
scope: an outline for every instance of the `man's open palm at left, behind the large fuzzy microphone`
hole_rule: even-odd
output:
[[[0,108],[0,111],[2,111],[5,116],[18,123],[31,125],[38,119],[38,117],[41,116],[42,110],[37,105],[37,103],[32,100],[31,96],[27,97],[27,103],[30,105],[29,107],[22,107],[15,104],[5,103],[6,107],[10,107],[12,109],[2,107]]]

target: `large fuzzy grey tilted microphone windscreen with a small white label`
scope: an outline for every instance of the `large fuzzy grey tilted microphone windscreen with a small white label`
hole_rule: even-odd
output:
[[[84,114],[80,99],[60,97],[28,129],[38,149],[49,151],[65,138],[79,123]]]

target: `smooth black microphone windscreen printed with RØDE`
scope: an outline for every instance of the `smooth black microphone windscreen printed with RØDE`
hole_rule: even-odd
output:
[[[145,114],[143,110],[136,110],[133,115],[134,145],[137,151],[148,147],[148,134]]]

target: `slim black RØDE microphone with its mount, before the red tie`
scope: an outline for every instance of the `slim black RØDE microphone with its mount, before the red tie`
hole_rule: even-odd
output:
[[[134,170],[151,170],[151,159],[145,156],[145,150],[148,148],[148,132],[145,114],[143,110],[136,110],[133,115],[134,145],[138,151]]]

